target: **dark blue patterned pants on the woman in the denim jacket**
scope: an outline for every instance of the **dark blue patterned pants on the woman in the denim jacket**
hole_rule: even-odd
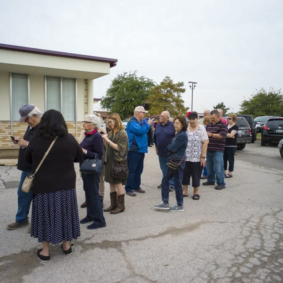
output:
[[[179,163],[180,160],[173,160],[175,163]],[[176,194],[176,201],[178,204],[183,204],[183,188],[182,188],[182,180],[183,180],[183,170],[185,167],[185,160],[183,160],[178,167],[178,170],[175,175],[169,173],[168,171],[162,178],[161,183],[161,196],[163,201],[169,202],[169,180],[174,178],[175,184],[175,194]]]

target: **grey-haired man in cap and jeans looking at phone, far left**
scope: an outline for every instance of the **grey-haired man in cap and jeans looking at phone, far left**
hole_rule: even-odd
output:
[[[28,214],[31,206],[32,191],[25,193],[22,191],[22,185],[25,177],[32,173],[31,164],[25,162],[24,155],[25,150],[29,145],[29,142],[33,138],[36,126],[40,122],[42,112],[32,104],[24,104],[19,108],[19,114],[21,118],[19,122],[25,122],[28,124],[27,130],[23,138],[19,136],[14,137],[12,142],[19,146],[19,158],[18,158],[18,169],[22,171],[20,182],[18,186],[18,211],[16,214],[16,221],[8,224],[8,230],[17,229],[23,225],[29,224]],[[30,230],[28,230],[30,231]]]

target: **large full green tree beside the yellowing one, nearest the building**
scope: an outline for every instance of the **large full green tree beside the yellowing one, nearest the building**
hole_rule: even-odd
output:
[[[102,97],[101,107],[110,113],[118,113],[121,119],[129,118],[134,114],[136,106],[148,108],[145,101],[153,86],[153,80],[138,77],[136,71],[124,72],[112,80],[105,97]]]

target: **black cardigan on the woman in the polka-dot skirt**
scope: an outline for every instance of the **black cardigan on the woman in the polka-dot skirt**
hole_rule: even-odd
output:
[[[35,172],[52,141],[52,138],[34,136],[29,143],[25,151],[25,161],[32,164],[32,172]],[[74,189],[74,162],[82,162],[83,159],[82,149],[71,134],[58,137],[35,175],[33,194]]]

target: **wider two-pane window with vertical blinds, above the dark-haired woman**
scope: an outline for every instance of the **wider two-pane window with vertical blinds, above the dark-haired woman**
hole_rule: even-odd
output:
[[[46,110],[58,110],[66,121],[75,121],[76,80],[46,76],[46,105]]]

